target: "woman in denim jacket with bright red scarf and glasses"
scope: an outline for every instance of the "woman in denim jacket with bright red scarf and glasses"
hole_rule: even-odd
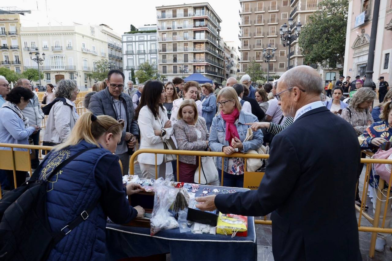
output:
[[[232,87],[225,87],[218,94],[218,106],[221,112],[212,119],[209,147],[212,151],[231,155],[236,152],[247,153],[263,145],[261,130],[253,132],[253,139],[245,141],[248,125],[258,119],[251,113],[241,111],[237,92]],[[218,172],[222,170],[222,158],[216,158]],[[243,187],[244,164],[242,158],[225,158],[223,165],[223,186]]]

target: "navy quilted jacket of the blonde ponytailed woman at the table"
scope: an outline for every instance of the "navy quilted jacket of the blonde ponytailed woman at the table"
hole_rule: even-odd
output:
[[[80,150],[96,147],[82,140],[75,146],[52,152],[40,170],[43,179],[54,167]],[[122,186],[118,156],[109,150],[88,150],[55,174],[47,187],[47,214],[53,231],[60,231],[91,203],[100,204],[51,251],[48,260],[104,260],[107,216],[128,223],[137,211],[129,206]]]

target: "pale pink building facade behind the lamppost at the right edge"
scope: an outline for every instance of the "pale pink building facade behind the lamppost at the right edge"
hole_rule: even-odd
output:
[[[359,1],[358,1],[359,2]],[[348,22],[343,74],[353,77],[365,76],[370,31],[374,10],[373,0],[348,3]],[[378,14],[376,49],[374,51],[373,82],[378,88],[379,76],[387,82],[392,81],[392,0],[381,1]]]

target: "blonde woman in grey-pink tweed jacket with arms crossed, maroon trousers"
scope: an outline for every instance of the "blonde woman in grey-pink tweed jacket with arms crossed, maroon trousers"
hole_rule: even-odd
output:
[[[173,126],[174,137],[179,150],[205,150],[208,147],[209,132],[205,120],[198,117],[194,100],[184,100],[178,110],[178,121]],[[180,155],[180,182],[193,183],[198,168],[196,156]]]

